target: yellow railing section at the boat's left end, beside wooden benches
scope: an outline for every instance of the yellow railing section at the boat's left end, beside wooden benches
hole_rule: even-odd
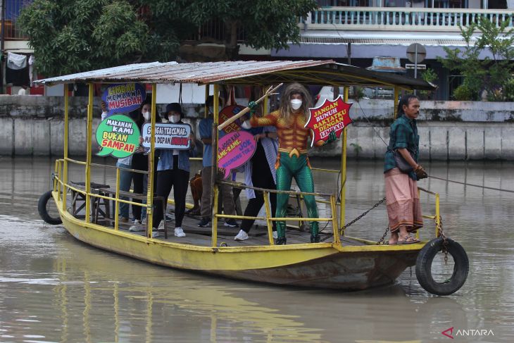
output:
[[[65,163],[66,162],[66,163]],[[91,199],[104,199],[104,201],[113,201],[114,203],[114,230],[118,230],[119,228],[119,211],[120,211],[120,204],[130,204],[132,206],[141,206],[146,207],[147,209],[151,204],[143,204],[142,202],[135,202],[130,200],[121,199],[120,197],[123,196],[123,191],[120,191],[120,170],[127,170],[132,173],[141,173],[147,175],[148,172],[146,170],[137,170],[137,169],[130,169],[130,168],[123,168],[118,166],[108,166],[100,163],[89,163],[89,166],[96,167],[96,168],[109,168],[109,169],[115,169],[116,170],[116,185],[115,189],[108,189],[106,187],[101,187],[100,189],[96,189],[96,192],[87,192],[87,187],[78,187],[77,184],[70,182],[68,180],[68,168],[67,163],[73,163],[79,166],[86,166],[86,162],[84,161],[77,161],[73,158],[61,158],[56,160],[55,165],[55,171],[54,171],[54,180],[53,180],[53,188],[54,191],[57,191],[58,194],[58,200],[62,201],[62,209],[63,211],[69,211],[70,208],[68,208],[67,204],[67,194],[68,192],[75,192],[78,194],[82,194],[82,196],[85,199],[85,207],[86,207],[86,222],[89,223],[90,221],[90,202],[93,204],[97,204],[97,201],[91,201]],[[66,168],[65,168],[66,165]],[[111,196],[107,196],[106,194],[111,194]],[[113,196],[114,197],[113,197]],[[72,199],[73,200],[73,199]]]

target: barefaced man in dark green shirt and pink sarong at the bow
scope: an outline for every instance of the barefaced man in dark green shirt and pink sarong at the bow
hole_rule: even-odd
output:
[[[384,158],[387,216],[391,229],[389,244],[413,244],[420,241],[411,234],[423,226],[417,180],[427,177],[425,169],[418,164],[418,97],[402,96],[397,113],[399,117],[391,125],[389,145]],[[402,172],[397,166],[394,154],[403,157],[413,170]]]

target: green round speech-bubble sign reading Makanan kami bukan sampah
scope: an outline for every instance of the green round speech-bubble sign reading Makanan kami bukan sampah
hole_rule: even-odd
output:
[[[98,156],[130,156],[139,146],[139,127],[127,116],[110,116],[96,129],[96,142],[102,148]]]

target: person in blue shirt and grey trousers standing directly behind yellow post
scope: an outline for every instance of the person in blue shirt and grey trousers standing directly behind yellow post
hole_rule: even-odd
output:
[[[213,166],[213,113],[214,113],[214,98],[209,96],[206,104],[209,107],[208,118],[200,120],[199,132],[201,142],[203,142],[203,158],[202,158],[202,170],[201,170],[201,206],[200,215],[201,220],[198,223],[199,227],[207,227],[211,222],[212,211],[211,211],[211,192],[213,184],[211,181],[212,166]],[[220,131],[220,135],[222,135]],[[222,185],[220,187],[222,193],[223,212],[228,215],[235,215],[236,210],[234,206],[234,197],[232,195],[232,187],[229,185]],[[225,220],[225,226],[227,227],[238,227],[236,220],[230,218]]]

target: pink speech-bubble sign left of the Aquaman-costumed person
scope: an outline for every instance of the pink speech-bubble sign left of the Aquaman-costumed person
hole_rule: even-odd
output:
[[[218,142],[218,168],[223,169],[225,178],[230,170],[242,166],[256,149],[253,135],[246,131],[231,132]]]

